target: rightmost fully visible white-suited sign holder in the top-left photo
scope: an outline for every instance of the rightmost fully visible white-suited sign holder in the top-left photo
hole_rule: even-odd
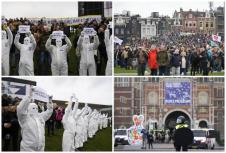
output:
[[[89,36],[81,34],[78,43],[79,50],[81,52],[79,75],[86,76],[87,70],[89,75],[96,75],[96,64],[94,59],[95,50],[99,46],[99,38],[97,35],[94,36],[94,42],[90,43]]]

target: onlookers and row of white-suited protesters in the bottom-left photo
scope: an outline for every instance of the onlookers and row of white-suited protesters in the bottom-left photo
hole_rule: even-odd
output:
[[[47,136],[51,137],[62,128],[62,149],[74,151],[82,148],[88,138],[93,138],[97,131],[109,126],[111,118],[88,105],[82,109],[78,105],[78,102],[69,101],[64,108],[52,102],[34,103],[29,96],[21,99],[3,94],[2,150],[44,151],[45,129]]]

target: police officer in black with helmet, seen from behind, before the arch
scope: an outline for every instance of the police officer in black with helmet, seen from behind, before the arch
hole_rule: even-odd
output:
[[[188,146],[193,142],[193,133],[186,124],[185,117],[179,116],[174,132],[174,147],[176,151],[188,151]]]

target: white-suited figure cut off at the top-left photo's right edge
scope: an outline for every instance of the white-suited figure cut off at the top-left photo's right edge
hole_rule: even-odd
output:
[[[104,31],[104,43],[108,56],[105,75],[112,75],[112,35],[110,36],[109,29]]]

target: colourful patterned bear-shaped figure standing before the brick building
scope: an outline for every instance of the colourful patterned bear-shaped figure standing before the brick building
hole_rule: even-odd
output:
[[[143,115],[133,115],[134,125],[128,129],[128,142],[130,145],[142,145]]]

